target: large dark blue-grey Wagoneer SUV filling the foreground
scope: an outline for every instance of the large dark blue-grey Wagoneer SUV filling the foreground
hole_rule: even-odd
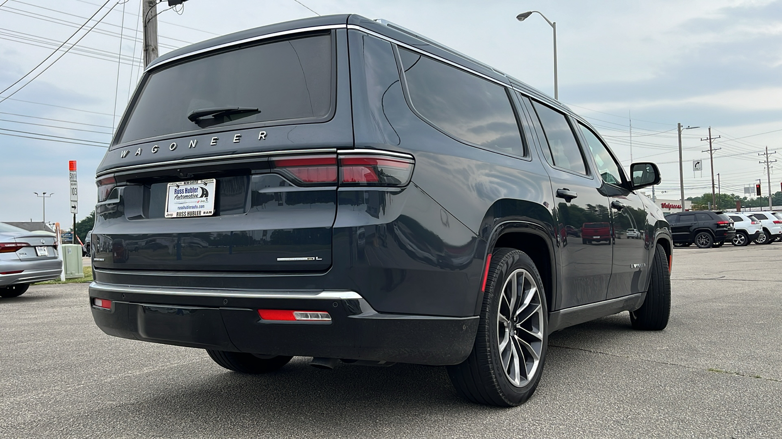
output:
[[[217,37],[145,70],[99,166],[92,316],[242,373],[448,366],[517,405],[552,331],[668,322],[672,237],[637,193],[659,173],[631,175],[564,105],[391,23]]]

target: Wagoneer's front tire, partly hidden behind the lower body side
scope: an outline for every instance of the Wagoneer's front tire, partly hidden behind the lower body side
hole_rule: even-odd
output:
[[[630,324],[637,330],[664,330],[671,316],[671,275],[668,258],[661,245],[655,248],[651,262],[651,280],[644,304],[630,312]]]

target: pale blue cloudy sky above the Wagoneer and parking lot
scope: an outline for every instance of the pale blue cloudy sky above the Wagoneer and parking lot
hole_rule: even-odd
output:
[[[142,57],[140,0],[109,0],[99,9],[104,1],[0,0],[0,90],[42,71],[0,102],[0,221],[41,220],[34,192],[45,191],[53,193],[46,219],[70,224],[69,160],[78,163],[77,218],[94,208],[95,168]],[[70,52],[34,69],[88,17],[99,11],[97,20],[113,5]],[[766,146],[779,148],[770,177],[772,191],[780,190],[782,0],[188,0],[184,9],[167,8],[158,6],[161,53],[316,13],[357,13],[414,30],[554,95],[551,27],[537,14],[515,20],[540,11],[557,23],[561,102],[600,131],[626,168],[657,162],[657,198],[679,198],[676,123],[699,127],[682,135],[686,197],[711,191],[709,155],[702,152],[708,141],[701,141],[708,127],[719,137],[713,165],[721,191],[743,195],[760,179],[766,195],[758,155]],[[696,159],[703,171],[693,171]]]

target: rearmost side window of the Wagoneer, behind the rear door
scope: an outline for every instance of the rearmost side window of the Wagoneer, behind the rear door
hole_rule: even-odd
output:
[[[400,48],[413,108],[458,139],[512,155],[526,155],[505,87]]]

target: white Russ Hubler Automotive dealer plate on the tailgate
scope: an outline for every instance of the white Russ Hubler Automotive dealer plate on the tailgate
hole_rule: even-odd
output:
[[[166,218],[210,216],[214,213],[217,180],[191,180],[169,183],[166,191]]]

